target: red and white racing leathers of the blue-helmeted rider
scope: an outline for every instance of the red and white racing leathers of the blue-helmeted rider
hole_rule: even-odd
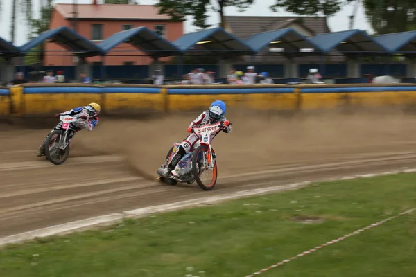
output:
[[[164,177],[168,177],[172,170],[175,169],[175,166],[177,165],[177,163],[179,163],[180,159],[182,159],[182,157],[184,157],[184,154],[191,152],[193,150],[193,145],[195,145],[195,143],[198,141],[198,136],[193,133],[193,128],[194,127],[202,127],[205,125],[209,125],[209,124],[214,124],[217,122],[223,122],[224,125],[223,127],[221,127],[221,130],[225,133],[229,133],[232,131],[232,127],[231,125],[229,125],[229,121],[227,120],[227,118],[225,118],[225,116],[221,116],[218,119],[215,118],[211,118],[209,116],[209,111],[204,111],[202,112],[202,114],[200,114],[200,116],[198,116],[195,120],[193,120],[191,122],[191,124],[188,127],[188,132],[191,133],[189,134],[189,136],[187,136],[186,139],[184,139],[182,141],[182,143],[179,145],[179,147],[177,148],[177,152],[175,153],[175,155],[172,157],[171,162],[168,164],[168,166],[166,166],[165,170],[164,170]],[[214,139],[214,137],[217,135],[213,134],[213,136],[211,137],[211,139]]]

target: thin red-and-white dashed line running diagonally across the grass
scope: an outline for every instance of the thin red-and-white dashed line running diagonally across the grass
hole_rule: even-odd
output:
[[[313,253],[313,252],[315,252],[315,251],[317,251],[319,249],[322,249],[324,247],[327,247],[330,244],[334,244],[336,242],[340,242],[342,240],[345,240],[346,238],[349,238],[352,235],[359,235],[360,233],[362,233],[365,230],[372,229],[375,226],[380,226],[381,224],[383,224],[385,222],[388,222],[390,220],[394,220],[395,218],[400,217],[401,215],[407,215],[408,213],[413,213],[413,211],[416,211],[416,208],[410,208],[409,210],[404,211],[403,213],[398,213],[397,215],[393,215],[392,217],[388,217],[385,220],[381,220],[379,222],[370,224],[370,225],[368,225],[368,226],[366,226],[366,227],[364,227],[362,229],[358,229],[358,230],[356,230],[356,231],[354,231],[352,233],[349,233],[348,235],[343,235],[342,237],[337,238],[335,240],[330,240],[329,242],[326,242],[324,244],[318,245],[318,247],[313,247],[313,249],[309,249],[307,251],[304,251],[304,252],[302,252],[300,254],[297,254],[296,256],[293,256],[292,258],[288,258],[286,260],[282,260],[281,262],[277,262],[277,264],[275,264],[275,265],[270,265],[270,267],[265,267],[265,268],[263,268],[263,269],[261,269],[259,271],[254,272],[253,274],[247,275],[245,277],[254,277],[254,276],[257,276],[257,275],[259,275],[259,274],[261,274],[263,272],[266,272],[266,271],[268,271],[270,269],[273,269],[275,267],[280,267],[281,265],[287,264],[288,262],[291,262],[291,261],[293,261],[293,260],[295,260],[295,259],[297,259],[299,257],[308,255],[308,254]]]

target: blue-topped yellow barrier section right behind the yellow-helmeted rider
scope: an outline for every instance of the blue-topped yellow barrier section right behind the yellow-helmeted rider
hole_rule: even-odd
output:
[[[163,111],[166,97],[150,85],[24,84],[21,114],[53,114],[97,102],[105,113]],[[18,91],[15,93],[16,98]]]

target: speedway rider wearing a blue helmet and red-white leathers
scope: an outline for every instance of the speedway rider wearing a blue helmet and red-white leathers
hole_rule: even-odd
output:
[[[189,136],[187,136],[187,139],[184,139],[182,143],[177,148],[177,152],[172,157],[171,162],[166,166],[163,172],[163,176],[165,178],[169,177],[171,175],[172,170],[175,169],[175,166],[177,163],[179,163],[180,159],[184,157],[184,154],[187,152],[191,152],[193,150],[193,145],[198,141],[198,136],[193,133],[194,127],[202,127],[209,124],[214,124],[218,122],[222,122],[224,125],[222,127],[223,132],[229,133],[231,132],[232,128],[229,124],[229,121],[227,118],[224,117],[225,111],[227,110],[227,107],[225,106],[225,103],[220,100],[216,100],[211,104],[209,109],[207,111],[202,112],[200,116],[196,118],[196,120],[193,120],[191,124],[188,127],[188,132],[191,133]],[[218,134],[218,133],[217,133]],[[216,136],[216,134],[214,134]],[[211,138],[214,139],[214,138]]]

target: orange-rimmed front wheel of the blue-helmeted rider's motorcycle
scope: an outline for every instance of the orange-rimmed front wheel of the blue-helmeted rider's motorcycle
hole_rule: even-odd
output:
[[[216,161],[214,162],[214,168],[209,170],[204,167],[204,161],[206,161],[206,155],[209,152],[207,145],[200,145],[193,152],[192,157],[192,170],[193,177],[195,178],[196,183],[202,190],[211,190],[214,188],[217,181],[217,166]]]

